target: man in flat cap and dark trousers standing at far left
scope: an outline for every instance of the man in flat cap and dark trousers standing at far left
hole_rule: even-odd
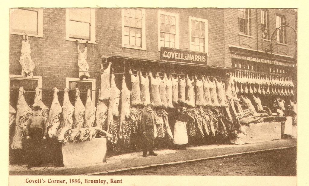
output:
[[[29,118],[25,135],[29,144],[28,168],[39,166],[43,163],[43,142],[46,139],[46,119],[41,115],[41,107],[33,107],[33,115]]]

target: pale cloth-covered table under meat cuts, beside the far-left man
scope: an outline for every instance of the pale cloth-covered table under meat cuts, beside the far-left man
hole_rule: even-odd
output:
[[[75,143],[68,141],[62,146],[62,154],[65,166],[106,162],[106,138]]]

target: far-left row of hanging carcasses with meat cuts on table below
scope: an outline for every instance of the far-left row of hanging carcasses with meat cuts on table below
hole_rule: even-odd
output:
[[[39,87],[36,87],[36,95],[33,104],[33,106],[39,105],[42,108],[41,114],[46,119],[48,135],[50,138],[56,138],[65,143],[68,140],[73,142],[85,141],[93,139],[96,136],[112,137],[106,131],[102,130],[102,127],[97,127],[95,125],[96,107],[91,101],[90,89],[88,89],[87,93],[86,107],[83,105],[79,97],[78,88],[76,88],[75,107],[70,103],[68,88],[64,89],[62,107],[58,100],[59,90],[56,87],[54,87],[53,90],[53,102],[50,108],[46,107],[42,102],[41,90]],[[11,139],[12,149],[23,148],[24,131],[29,118],[32,115],[32,109],[25,101],[24,92],[23,87],[20,87],[16,111],[11,105],[9,109],[10,129],[14,130]],[[11,127],[14,121],[15,127]]]

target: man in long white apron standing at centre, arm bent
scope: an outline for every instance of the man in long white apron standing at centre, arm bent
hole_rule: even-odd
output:
[[[178,149],[186,149],[188,144],[187,123],[193,122],[194,119],[187,113],[187,107],[182,107],[181,112],[176,114],[174,126],[174,144]]]

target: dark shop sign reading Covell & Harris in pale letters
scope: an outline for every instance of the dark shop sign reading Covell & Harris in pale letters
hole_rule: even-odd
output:
[[[207,53],[161,47],[160,60],[206,64]]]

